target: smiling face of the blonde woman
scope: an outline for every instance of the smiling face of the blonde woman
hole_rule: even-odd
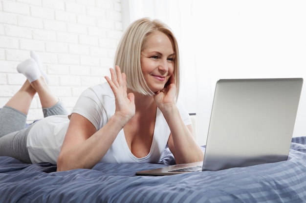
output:
[[[161,91],[174,72],[175,52],[168,36],[156,32],[141,51],[141,71],[152,92]]]

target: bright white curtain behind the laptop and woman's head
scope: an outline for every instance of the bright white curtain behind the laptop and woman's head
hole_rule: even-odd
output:
[[[305,77],[304,0],[122,0],[124,27],[158,18],[180,46],[180,100],[197,113],[199,144],[206,143],[216,81],[221,78]],[[306,77],[305,77],[306,78]],[[306,135],[306,90],[294,136]]]

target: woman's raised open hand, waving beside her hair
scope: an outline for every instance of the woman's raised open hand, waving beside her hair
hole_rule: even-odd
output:
[[[115,66],[115,69],[117,74],[115,74],[115,71],[110,68],[111,79],[108,76],[105,76],[105,79],[109,83],[109,86],[115,95],[115,115],[118,115],[123,119],[122,121],[127,123],[135,115],[134,94],[127,93],[126,74],[121,73],[119,66]]]

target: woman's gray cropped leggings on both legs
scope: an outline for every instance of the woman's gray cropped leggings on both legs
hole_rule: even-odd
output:
[[[44,117],[51,115],[67,115],[62,102],[50,108],[43,108]],[[32,163],[26,147],[30,127],[25,128],[26,114],[11,107],[0,109],[0,156],[10,156],[25,163]]]

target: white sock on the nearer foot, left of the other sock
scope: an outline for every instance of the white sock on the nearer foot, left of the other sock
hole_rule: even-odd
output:
[[[17,71],[18,73],[24,74],[30,83],[42,76],[37,63],[33,58],[22,61],[17,66]]]

